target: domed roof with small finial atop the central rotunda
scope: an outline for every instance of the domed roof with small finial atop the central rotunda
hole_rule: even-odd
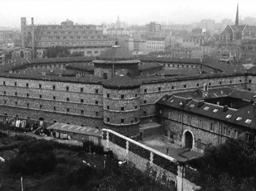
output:
[[[129,50],[126,50],[119,45],[114,45],[110,49],[102,52],[98,58],[100,60],[133,60],[134,55],[132,55]]]

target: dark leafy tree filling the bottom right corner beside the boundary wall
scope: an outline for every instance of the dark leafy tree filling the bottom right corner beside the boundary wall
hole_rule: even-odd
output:
[[[196,184],[203,191],[248,191],[256,188],[256,144],[228,139],[210,146],[201,159],[191,161],[199,171]]]

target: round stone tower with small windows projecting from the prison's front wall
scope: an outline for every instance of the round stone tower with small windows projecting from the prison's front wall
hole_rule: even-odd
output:
[[[139,80],[121,75],[104,80],[103,122],[125,136],[139,133]]]

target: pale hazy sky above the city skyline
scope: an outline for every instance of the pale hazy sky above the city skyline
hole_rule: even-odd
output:
[[[241,18],[256,17],[256,0],[0,0],[0,26],[20,28],[20,17],[31,24],[121,22],[146,24],[191,23],[203,18],[220,22],[235,20],[239,3]]]

